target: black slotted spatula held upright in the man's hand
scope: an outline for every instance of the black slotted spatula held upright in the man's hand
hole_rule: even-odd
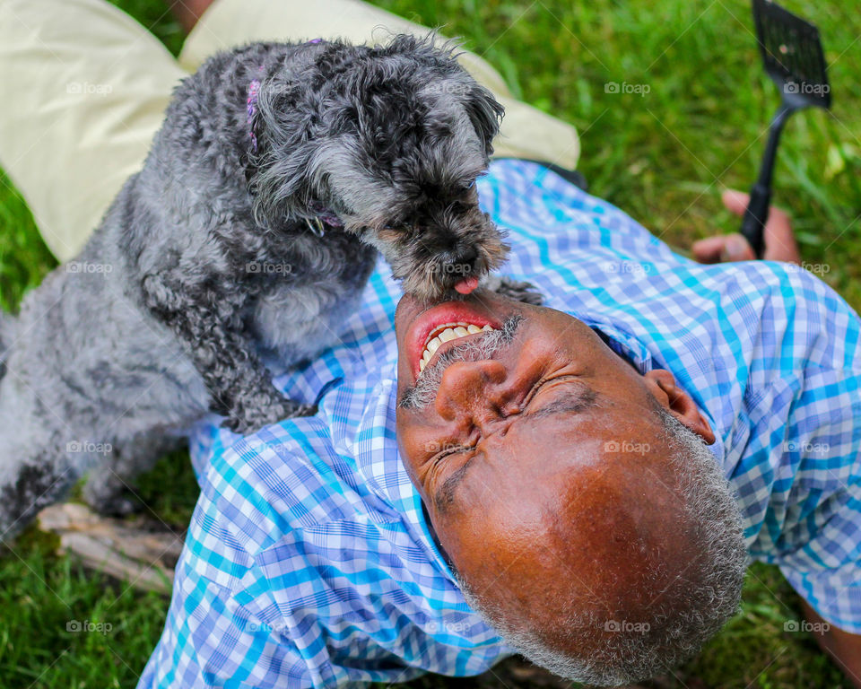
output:
[[[792,113],[803,108],[831,108],[831,87],[819,30],[777,3],[753,0],[753,21],[765,70],[780,90],[780,107],[771,120],[760,178],[751,189],[742,234],[757,257],[765,249],[763,229],[769,219],[771,176],[780,132]]]

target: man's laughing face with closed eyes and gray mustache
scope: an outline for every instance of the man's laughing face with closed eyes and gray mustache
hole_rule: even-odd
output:
[[[421,371],[425,345],[450,323],[480,331],[439,345]],[[666,371],[642,376],[578,319],[483,291],[430,308],[404,297],[396,333],[402,456],[458,568],[525,567],[528,580],[526,563],[511,554],[564,533],[557,522],[589,510],[601,518],[594,532],[578,519],[578,547],[603,571],[626,564],[613,562],[619,551],[604,543],[608,523],[616,538],[646,538],[656,548],[683,536],[656,520],[677,498],[674,477],[648,452],[661,442],[655,402],[708,442],[714,436]],[[666,490],[650,490],[644,501],[631,476],[647,472]],[[528,567],[536,564],[534,554]]]

